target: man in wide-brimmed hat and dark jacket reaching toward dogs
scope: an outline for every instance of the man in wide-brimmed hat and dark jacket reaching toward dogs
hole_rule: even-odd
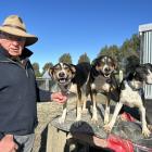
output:
[[[28,60],[33,52],[25,47],[37,40],[17,15],[8,16],[0,26],[0,152],[31,151],[36,101],[66,102],[61,92],[50,93],[36,85]]]

